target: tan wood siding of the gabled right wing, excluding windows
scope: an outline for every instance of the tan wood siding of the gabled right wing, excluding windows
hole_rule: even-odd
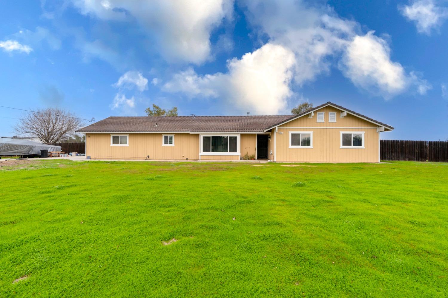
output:
[[[317,122],[317,112],[325,112],[325,122]],[[336,112],[336,122],[328,122],[328,112]],[[276,134],[276,161],[378,162],[379,133],[376,127],[353,115],[340,118],[340,110],[332,107],[319,109],[314,112],[313,118],[303,116],[279,126]],[[313,148],[289,148],[290,131],[312,131]],[[340,131],[364,131],[365,148],[340,148]]]

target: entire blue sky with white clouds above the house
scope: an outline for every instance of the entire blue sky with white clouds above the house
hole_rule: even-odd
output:
[[[98,121],[153,103],[242,115],[332,101],[394,126],[383,139],[448,138],[446,1],[0,5],[0,105]],[[20,116],[0,108],[0,135]]]

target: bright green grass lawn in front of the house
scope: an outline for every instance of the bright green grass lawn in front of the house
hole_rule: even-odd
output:
[[[448,164],[50,160],[0,183],[0,297],[448,295]]]

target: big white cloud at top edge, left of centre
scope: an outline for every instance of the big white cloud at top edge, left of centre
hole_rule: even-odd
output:
[[[137,20],[169,61],[210,59],[210,34],[230,18],[233,0],[73,0],[83,14],[103,20]]]

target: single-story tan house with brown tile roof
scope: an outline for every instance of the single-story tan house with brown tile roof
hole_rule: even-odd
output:
[[[379,162],[394,128],[327,102],[299,115],[109,117],[86,126],[91,159]]]

